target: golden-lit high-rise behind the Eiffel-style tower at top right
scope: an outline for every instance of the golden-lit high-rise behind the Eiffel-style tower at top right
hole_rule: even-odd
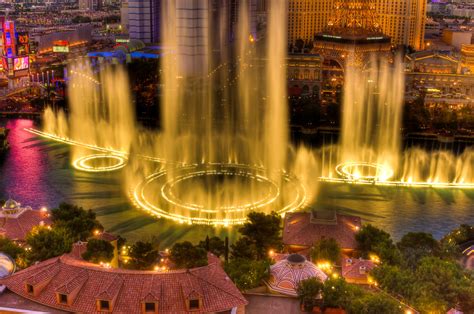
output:
[[[340,0],[289,0],[288,42],[312,41],[324,31]],[[391,37],[392,45],[420,50],[426,23],[426,0],[371,0],[380,29]]]

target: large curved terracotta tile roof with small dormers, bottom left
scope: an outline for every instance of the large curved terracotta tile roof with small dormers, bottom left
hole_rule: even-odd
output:
[[[51,273],[52,269],[57,269],[55,276],[37,296],[25,291],[25,282],[29,278],[41,272]],[[57,303],[58,290],[71,291],[82,281],[82,287],[70,306]],[[102,268],[66,254],[0,279],[0,284],[42,305],[81,313],[96,313],[97,297],[115,298],[113,311],[130,314],[141,313],[143,300],[156,301],[159,313],[187,313],[186,296],[196,293],[202,298],[200,313],[226,311],[247,304],[217,263],[157,273]]]

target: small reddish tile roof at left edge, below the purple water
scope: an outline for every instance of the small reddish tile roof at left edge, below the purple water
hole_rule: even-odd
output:
[[[11,240],[25,241],[26,235],[33,227],[51,223],[48,212],[29,209],[23,211],[18,218],[2,217],[0,228],[3,230],[0,233]]]

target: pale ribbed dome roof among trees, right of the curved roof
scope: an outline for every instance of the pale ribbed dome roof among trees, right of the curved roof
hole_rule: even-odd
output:
[[[316,265],[306,260],[303,255],[290,254],[270,267],[268,287],[276,292],[296,296],[300,281],[316,277],[325,281],[328,277]]]

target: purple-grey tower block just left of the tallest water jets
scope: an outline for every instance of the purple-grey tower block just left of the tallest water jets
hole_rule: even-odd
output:
[[[130,39],[156,43],[160,39],[161,1],[129,0],[128,23]]]

